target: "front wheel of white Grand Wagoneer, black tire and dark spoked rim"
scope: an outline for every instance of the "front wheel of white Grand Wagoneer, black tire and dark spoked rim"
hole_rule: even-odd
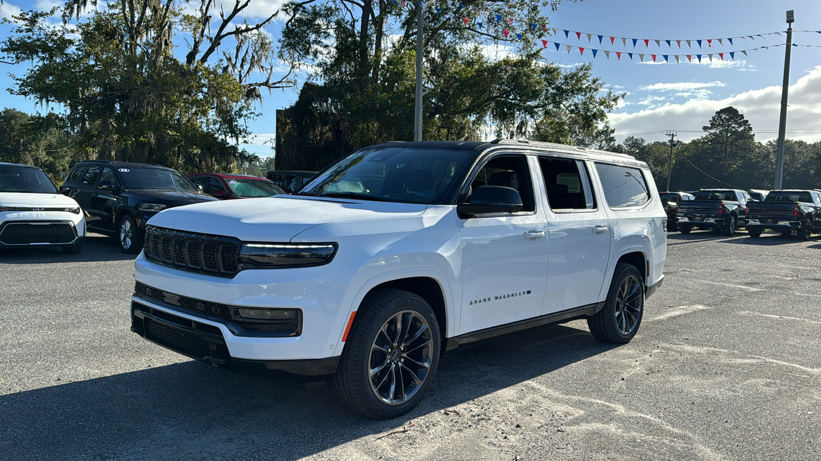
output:
[[[397,324],[409,329],[402,334]],[[397,350],[403,340],[405,347]],[[441,344],[436,314],[424,299],[409,291],[377,290],[356,313],[333,388],[355,413],[397,418],[419,404],[431,386]]]

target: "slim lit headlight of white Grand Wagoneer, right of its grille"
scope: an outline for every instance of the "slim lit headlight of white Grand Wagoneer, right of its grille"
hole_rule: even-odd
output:
[[[305,267],[327,264],[337,253],[337,244],[243,244],[243,269]]]

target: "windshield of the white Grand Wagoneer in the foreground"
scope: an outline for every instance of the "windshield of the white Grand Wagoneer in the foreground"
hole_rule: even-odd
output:
[[[470,150],[365,148],[342,159],[306,184],[298,195],[347,197],[401,203],[452,201]]]

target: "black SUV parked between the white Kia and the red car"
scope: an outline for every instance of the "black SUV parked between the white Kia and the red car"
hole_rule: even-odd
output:
[[[89,230],[116,235],[123,253],[140,253],[145,221],[158,212],[216,201],[171,168],[147,163],[77,162],[60,186],[85,213]]]

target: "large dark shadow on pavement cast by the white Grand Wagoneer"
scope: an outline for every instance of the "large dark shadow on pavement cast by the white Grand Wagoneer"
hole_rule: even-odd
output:
[[[375,436],[617,347],[541,326],[443,358],[410,413],[372,421],[330,386],[292,390],[183,362],[0,396],[7,459],[300,459]],[[2,382],[2,381],[0,381]]]

